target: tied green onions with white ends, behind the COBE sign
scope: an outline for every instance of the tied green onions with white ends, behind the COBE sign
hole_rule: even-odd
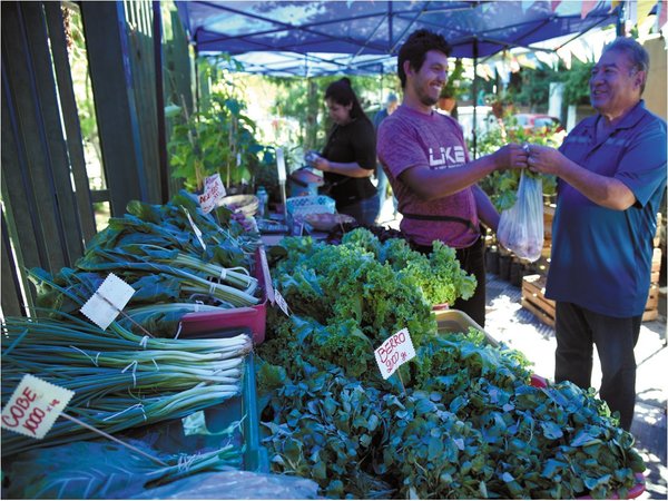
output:
[[[75,391],[67,413],[115,433],[183,418],[240,391],[244,333],[229,338],[165,340],[138,336],[114,322],[107,331],[66,315],[8,317],[2,324],[2,404],[26,373]],[[2,455],[40,445],[95,438],[59,420],[41,441],[2,433]]]

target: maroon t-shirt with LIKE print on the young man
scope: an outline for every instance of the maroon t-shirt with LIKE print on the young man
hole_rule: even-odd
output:
[[[435,111],[424,115],[400,106],[382,121],[376,149],[399,200],[404,234],[419,245],[441,240],[451,247],[464,248],[475,243],[480,230],[472,187],[424,202],[399,179],[401,173],[410,168],[466,168],[469,151],[456,120]],[[453,220],[439,220],[442,216]]]

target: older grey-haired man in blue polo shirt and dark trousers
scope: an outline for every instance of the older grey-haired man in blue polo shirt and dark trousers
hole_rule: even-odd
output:
[[[529,168],[559,177],[546,297],[556,307],[554,380],[591,385],[593,345],[600,397],[630,430],[633,348],[649,291],[657,210],[666,189],[666,122],[645,108],[649,56],[618,38],[589,79],[597,115],[559,150],[529,146]]]

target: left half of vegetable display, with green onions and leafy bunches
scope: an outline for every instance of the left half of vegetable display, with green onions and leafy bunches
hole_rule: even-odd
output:
[[[196,420],[242,393],[253,348],[246,331],[178,338],[178,324],[188,312],[259,302],[250,273],[258,235],[246,233],[226,208],[205,215],[185,193],[163,206],[132,202],[127,209],[72,268],[55,276],[31,269],[38,289],[32,316],[3,320],[3,409],[26,374],[75,392],[66,407],[71,419],[58,419],[41,440],[8,431],[19,426],[23,407],[3,414],[3,489],[11,498],[122,499],[144,485],[239,468],[244,451],[233,444],[238,423],[218,431],[219,448],[197,453],[154,450],[132,434],[155,423]],[[135,292],[117,321],[101,328],[80,310],[111,273]]]

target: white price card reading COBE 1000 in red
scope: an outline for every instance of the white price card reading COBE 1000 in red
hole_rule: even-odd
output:
[[[26,374],[2,410],[2,428],[43,439],[75,392]]]

